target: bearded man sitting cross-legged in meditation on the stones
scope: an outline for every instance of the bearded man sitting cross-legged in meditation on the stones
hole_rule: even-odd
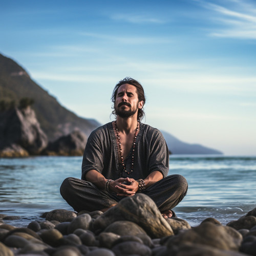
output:
[[[186,195],[180,175],[167,176],[169,155],[163,135],[141,123],[144,90],[126,77],[114,88],[116,120],[91,133],[83,154],[81,179],[67,178],[62,197],[76,211],[108,210],[124,197],[144,193],[156,203],[164,218]]]

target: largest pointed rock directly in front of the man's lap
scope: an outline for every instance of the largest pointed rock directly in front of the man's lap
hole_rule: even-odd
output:
[[[174,234],[155,202],[141,193],[133,197],[126,197],[116,206],[105,211],[93,222],[93,230],[100,232],[111,223],[124,220],[138,224],[151,238],[161,238]]]

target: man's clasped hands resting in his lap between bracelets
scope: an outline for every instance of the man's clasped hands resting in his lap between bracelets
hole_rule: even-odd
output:
[[[132,178],[119,178],[110,182],[110,189],[114,191],[117,196],[131,197],[139,189],[139,183]]]

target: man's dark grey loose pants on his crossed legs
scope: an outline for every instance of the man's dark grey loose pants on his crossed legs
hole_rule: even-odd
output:
[[[170,175],[142,191],[151,197],[160,211],[174,208],[187,193],[187,181],[181,175]],[[76,178],[65,179],[60,194],[75,211],[101,210],[118,203],[123,197],[97,188],[93,183]]]

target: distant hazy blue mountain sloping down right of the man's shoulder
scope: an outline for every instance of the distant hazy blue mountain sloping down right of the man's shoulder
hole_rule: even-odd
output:
[[[175,138],[173,135],[171,135],[167,132],[164,132],[164,131],[161,131],[161,132],[166,140],[169,151],[172,154],[184,154],[184,155],[191,155],[191,154],[222,155],[223,154],[222,152],[220,152],[218,150],[214,150],[212,148],[205,147],[200,144],[185,143],[185,142]]]

